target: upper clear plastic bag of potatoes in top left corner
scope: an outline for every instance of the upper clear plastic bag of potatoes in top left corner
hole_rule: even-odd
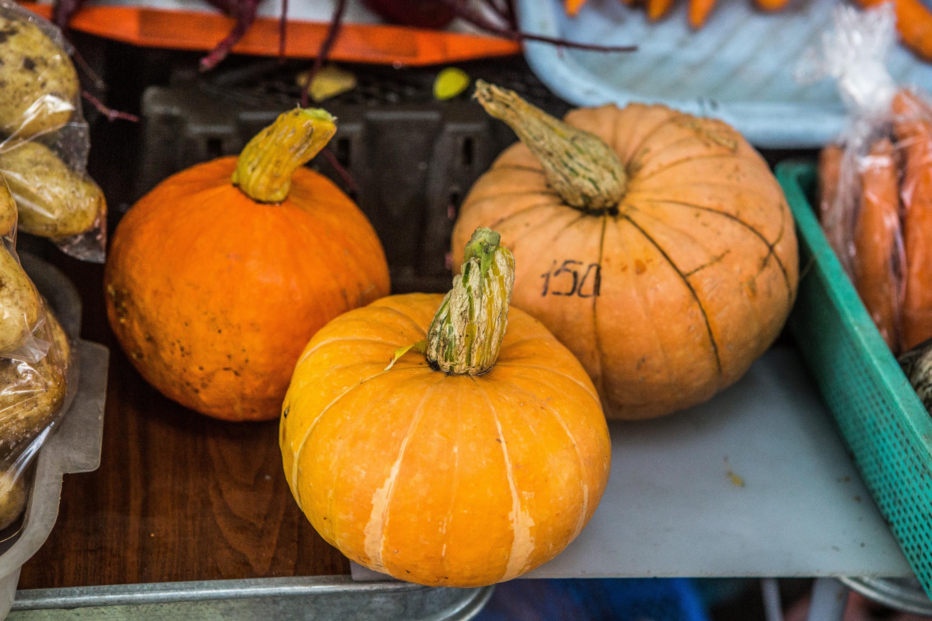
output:
[[[0,0],[0,172],[22,232],[103,263],[106,203],[85,171],[89,129],[70,50],[48,20]]]

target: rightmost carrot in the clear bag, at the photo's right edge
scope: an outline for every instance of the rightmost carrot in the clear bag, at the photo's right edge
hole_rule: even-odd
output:
[[[932,118],[908,91],[893,100],[893,130],[905,153],[903,237],[906,290],[903,299],[902,349],[932,337]]]

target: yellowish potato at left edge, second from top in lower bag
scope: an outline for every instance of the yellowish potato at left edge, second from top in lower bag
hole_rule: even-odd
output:
[[[39,295],[33,282],[9,250],[0,247],[0,352],[23,344],[38,315]]]

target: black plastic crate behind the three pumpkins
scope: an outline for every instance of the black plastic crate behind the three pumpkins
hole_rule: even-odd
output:
[[[467,63],[472,77],[514,88],[552,114],[555,98],[523,61]],[[254,61],[210,79],[179,72],[169,87],[148,88],[136,194],[178,170],[238,154],[261,128],[295,105],[298,71],[307,64]],[[359,87],[325,101],[337,117],[328,148],[355,191],[318,155],[309,165],[359,204],[385,247],[394,292],[445,291],[449,239],[462,198],[514,133],[464,94],[433,101],[439,69],[353,68]]]

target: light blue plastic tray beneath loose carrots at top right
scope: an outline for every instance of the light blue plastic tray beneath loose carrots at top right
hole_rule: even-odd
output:
[[[662,102],[693,115],[717,116],[764,147],[817,146],[843,128],[834,81],[801,85],[793,72],[831,23],[835,0],[790,0],[765,14],[754,0],[719,0],[706,27],[693,32],[687,0],[656,23],[643,7],[589,0],[569,18],[562,0],[517,0],[522,29],[637,52],[603,54],[528,43],[535,74],[577,105]],[[898,84],[932,88],[932,65],[896,45],[889,61]]]

